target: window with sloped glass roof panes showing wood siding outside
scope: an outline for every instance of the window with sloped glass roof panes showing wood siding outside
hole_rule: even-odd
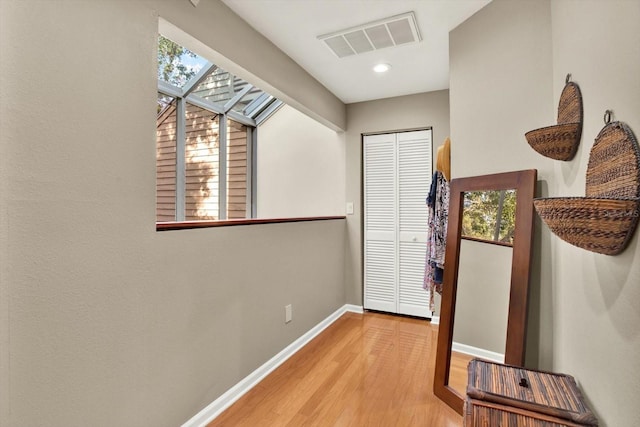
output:
[[[156,221],[255,217],[257,127],[281,105],[160,35]]]

